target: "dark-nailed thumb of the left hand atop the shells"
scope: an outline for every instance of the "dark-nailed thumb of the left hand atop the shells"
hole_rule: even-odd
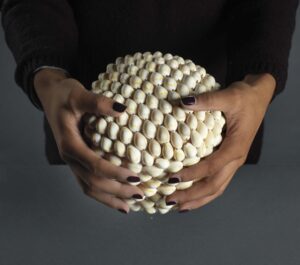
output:
[[[125,111],[126,105],[101,94],[93,93],[80,86],[73,89],[70,95],[71,105],[74,109],[79,109],[83,113],[93,113],[97,116],[109,115],[117,117]]]

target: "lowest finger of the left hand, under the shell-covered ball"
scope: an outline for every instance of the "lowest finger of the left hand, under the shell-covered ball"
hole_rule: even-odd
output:
[[[104,192],[89,191],[88,196],[92,197],[98,202],[107,205],[108,207],[123,210],[126,213],[130,211],[128,204],[124,200],[119,199],[114,195]]]

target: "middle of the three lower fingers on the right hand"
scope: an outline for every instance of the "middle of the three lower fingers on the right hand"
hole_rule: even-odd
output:
[[[172,195],[166,198],[166,202],[175,201],[177,204],[183,204],[189,201],[214,195],[236,170],[237,163],[231,162],[216,175],[194,182],[193,185],[188,189],[174,192]]]

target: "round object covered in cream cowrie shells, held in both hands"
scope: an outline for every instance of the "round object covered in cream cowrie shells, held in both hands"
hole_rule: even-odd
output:
[[[84,124],[89,146],[141,178],[141,200],[126,199],[132,211],[165,214],[178,208],[166,196],[193,185],[168,184],[169,173],[198,163],[222,142],[221,111],[190,111],[180,97],[220,88],[215,78],[189,59],[157,51],[118,57],[92,83],[91,91],[127,105],[118,118],[90,115]]]

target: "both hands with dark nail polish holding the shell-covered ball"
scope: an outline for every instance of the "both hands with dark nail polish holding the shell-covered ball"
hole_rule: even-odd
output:
[[[43,105],[61,158],[70,166],[83,192],[95,200],[128,213],[124,199],[140,198],[136,173],[99,157],[84,142],[80,123],[85,113],[119,116],[126,106],[94,94],[59,70],[44,69],[35,74],[34,87]],[[184,212],[199,208],[220,196],[235,172],[245,163],[257,130],[275,89],[270,74],[247,75],[226,89],[203,93],[183,106],[191,110],[221,110],[226,117],[226,136],[219,149],[198,164],[184,168],[170,178],[197,180],[192,187],[176,191],[166,201],[177,203]],[[140,197],[139,197],[140,196]]]

